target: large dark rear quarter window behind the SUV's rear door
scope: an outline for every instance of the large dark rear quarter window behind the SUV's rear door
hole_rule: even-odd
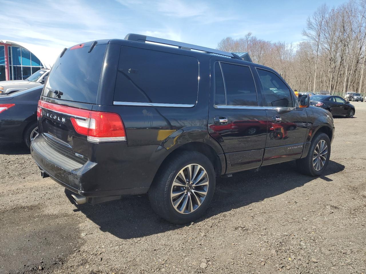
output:
[[[198,60],[191,56],[122,47],[114,100],[195,104]]]

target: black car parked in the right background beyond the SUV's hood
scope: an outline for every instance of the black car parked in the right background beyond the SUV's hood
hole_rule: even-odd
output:
[[[310,104],[326,109],[335,116],[344,115],[352,118],[355,115],[354,105],[339,96],[313,95],[310,97]]]

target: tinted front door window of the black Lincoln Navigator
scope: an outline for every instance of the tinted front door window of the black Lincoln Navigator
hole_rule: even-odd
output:
[[[265,105],[271,107],[294,107],[291,91],[275,73],[257,69],[266,99]]]

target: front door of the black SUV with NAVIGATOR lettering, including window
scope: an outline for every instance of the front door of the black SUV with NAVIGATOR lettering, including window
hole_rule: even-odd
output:
[[[267,114],[268,131],[262,165],[299,159],[307,133],[307,114],[276,73],[256,68]]]

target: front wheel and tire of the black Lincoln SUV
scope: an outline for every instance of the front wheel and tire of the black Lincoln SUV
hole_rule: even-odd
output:
[[[296,160],[297,169],[305,175],[320,176],[328,165],[329,157],[330,140],[328,135],[325,133],[317,134],[311,141],[307,156]]]

